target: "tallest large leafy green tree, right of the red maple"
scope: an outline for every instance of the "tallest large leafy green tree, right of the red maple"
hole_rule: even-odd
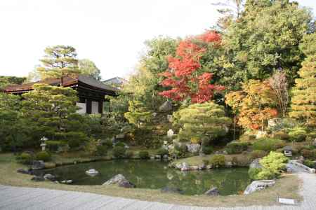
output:
[[[225,29],[225,57],[232,81],[263,80],[276,69],[294,84],[303,54],[298,48],[312,15],[288,0],[248,0],[240,18]]]

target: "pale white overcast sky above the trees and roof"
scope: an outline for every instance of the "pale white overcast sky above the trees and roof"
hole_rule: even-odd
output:
[[[144,41],[201,34],[216,23],[215,0],[1,0],[0,75],[27,76],[49,45],[72,45],[103,79],[126,77]],[[316,11],[315,0],[298,0]]]

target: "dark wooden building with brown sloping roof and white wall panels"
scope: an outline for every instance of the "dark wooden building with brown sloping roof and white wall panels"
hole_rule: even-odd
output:
[[[11,94],[23,94],[33,90],[33,85],[37,83],[44,83],[48,85],[60,85],[60,78],[49,78],[46,80],[40,80],[35,83],[27,83],[22,85],[11,85],[5,87],[3,92]],[[78,113],[103,113],[103,102],[105,102],[105,95],[115,96],[117,95],[117,88],[105,85],[100,81],[91,78],[90,76],[78,75],[74,77],[64,76],[62,77],[63,87],[72,87],[77,90],[79,102]]]

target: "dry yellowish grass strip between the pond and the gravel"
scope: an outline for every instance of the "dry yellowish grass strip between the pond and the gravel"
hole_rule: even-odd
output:
[[[211,156],[211,155],[210,155]],[[205,157],[204,157],[205,158]],[[195,160],[192,157],[191,160]],[[27,174],[18,174],[18,168],[26,168],[15,162],[15,157],[11,153],[0,154],[0,184],[7,186],[23,186],[31,188],[48,188],[55,190],[68,190],[86,193],[96,193],[100,195],[110,195],[115,197],[126,197],[138,200],[147,200],[154,202],[165,202],[183,205],[195,205],[203,207],[237,207],[249,205],[272,205],[277,204],[277,197],[291,197],[301,199],[298,195],[299,180],[296,176],[284,176],[277,179],[274,187],[256,192],[251,195],[234,195],[234,196],[218,196],[207,197],[164,194],[160,190],[147,189],[128,189],[116,186],[74,186],[55,184],[50,181],[34,182]]]

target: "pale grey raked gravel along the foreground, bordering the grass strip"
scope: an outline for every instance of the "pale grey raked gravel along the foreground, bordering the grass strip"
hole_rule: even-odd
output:
[[[96,195],[92,193],[79,193],[63,190],[48,190],[42,188],[19,188],[11,186],[0,186],[0,209],[109,209],[109,210],[202,210],[202,209],[304,209],[316,210],[316,175],[297,174],[303,179],[303,202],[297,206],[251,206],[251,207],[189,207],[176,204],[163,204],[159,202],[145,202],[106,195]]]

